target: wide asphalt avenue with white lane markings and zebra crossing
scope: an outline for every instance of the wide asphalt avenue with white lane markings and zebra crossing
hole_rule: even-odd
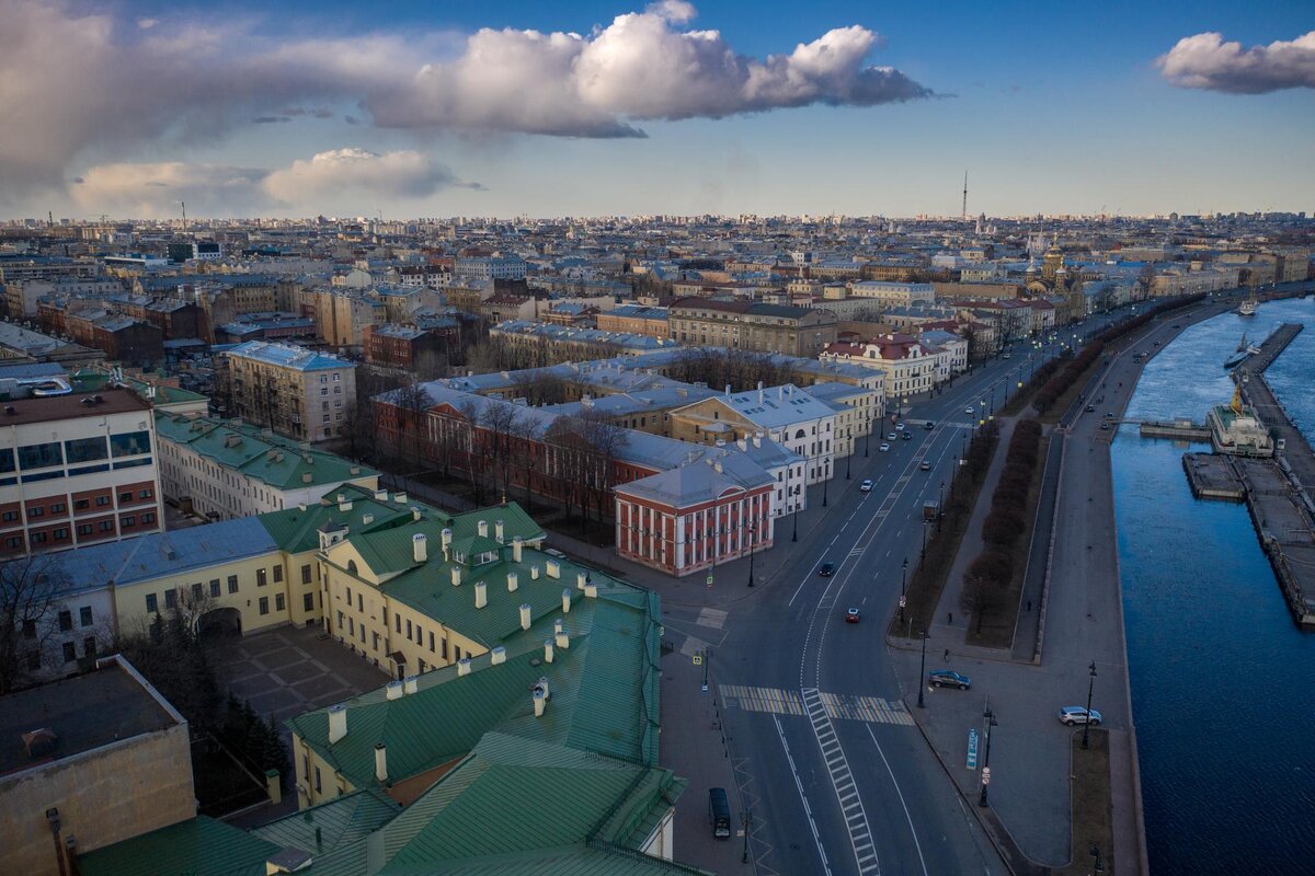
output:
[[[1082,339],[1128,311],[1057,334]],[[867,458],[860,443],[852,478],[844,479],[842,461],[827,490],[830,512],[813,532],[792,542],[792,521],[777,521],[777,546],[759,565],[771,583],[734,609],[717,658],[757,872],[1007,872],[903,709],[903,691],[919,679],[897,678],[884,632],[902,563],[918,562],[923,502],[949,489],[982,401],[998,408],[1035,361],[1059,349],[1057,340],[1040,349],[1015,344],[1009,359],[914,401],[911,439],[880,452],[893,428],[888,418]],[[890,399],[890,411],[901,402]],[[864,478],[874,482],[868,494],[859,490]],[[813,487],[810,503],[821,499],[822,487]],[[832,577],[819,577],[823,562],[835,563]],[[846,623],[849,607],[861,623]],[[928,655],[928,667],[938,663]]]

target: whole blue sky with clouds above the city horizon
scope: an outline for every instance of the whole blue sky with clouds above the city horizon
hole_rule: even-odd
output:
[[[0,0],[0,217],[1315,211],[1315,5]]]

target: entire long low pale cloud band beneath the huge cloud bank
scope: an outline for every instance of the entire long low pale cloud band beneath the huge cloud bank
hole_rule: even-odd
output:
[[[444,188],[483,188],[463,183],[422,152],[371,152],[339,148],[296,160],[277,171],[185,162],[99,164],[71,186],[88,213],[134,218],[179,214],[251,215],[262,210],[321,211],[326,204],[366,194],[389,201],[423,198]]]

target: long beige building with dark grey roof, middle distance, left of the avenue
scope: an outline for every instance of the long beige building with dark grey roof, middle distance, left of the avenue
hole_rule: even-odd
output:
[[[668,311],[671,336],[685,344],[814,357],[835,341],[826,310],[753,301],[679,298]]]

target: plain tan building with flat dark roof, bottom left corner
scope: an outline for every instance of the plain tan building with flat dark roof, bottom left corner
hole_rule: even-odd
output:
[[[0,859],[64,876],[75,858],[196,816],[188,724],[128,661],[0,697]]]

